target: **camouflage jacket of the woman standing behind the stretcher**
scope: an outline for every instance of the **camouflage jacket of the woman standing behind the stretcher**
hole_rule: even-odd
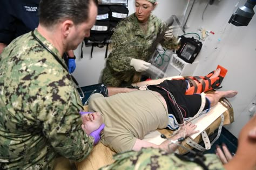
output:
[[[147,23],[146,34],[140,28],[138,19],[134,13],[124,18],[118,23],[111,37],[112,51],[106,61],[106,67],[103,70],[102,81],[113,87],[122,86],[122,83],[132,82],[136,73],[130,66],[131,59],[140,59],[149,61],[155,49],[152,51],[152,44],[160,34],[166,30],[166,24],[151,15]],[[177,45],[177,39],[162,39],[160,41],[163,47],[174,49]]]

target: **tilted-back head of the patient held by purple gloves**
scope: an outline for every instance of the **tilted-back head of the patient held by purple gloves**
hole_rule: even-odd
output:
[[[89,114],[82,115],[83,130],[90,134],[91,132],[99,129],[99,126],[103,124],[103,117],[100,112],[90,112]]]

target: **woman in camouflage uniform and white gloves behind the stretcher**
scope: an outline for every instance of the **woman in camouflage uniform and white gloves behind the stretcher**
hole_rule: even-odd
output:
[[[112,51],[103,70],[102,81],[111,87],[130,86],[139,81],[140,72],[149,68],[154,41],[168,30],[166,24],[151,14],[156,0],[136,0],[136,12],[118,23],[111,37]],[[145,5],[146,4],[146,5]],[[177,39],[165,34],[160,44],[177,48]],[[139,65],[139,66],[138,66]],[[137,79],[136,79],[137,77]]]

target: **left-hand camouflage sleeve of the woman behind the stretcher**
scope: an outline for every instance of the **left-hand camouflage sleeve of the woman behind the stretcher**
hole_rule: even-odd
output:
[[[130,66],[131,59],[134,56],[131,56],[129,52],[129,34],[131,33],[129,25],[129,21],[120,22],[111,37],[112,44],[110,48],[112,51],[107,61],[116,72],[134,69]]]

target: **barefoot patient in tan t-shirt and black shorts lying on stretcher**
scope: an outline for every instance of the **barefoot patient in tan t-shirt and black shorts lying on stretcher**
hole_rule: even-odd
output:
[[[219,77],[220,73],[221,69],[217,69],[210,79]],[[142,139],[153,130],[166,127],[173,130],[179,126],[179,133],[174,135],[172,140],[189,137],[198,131],[195,130],[196,125],[185,124],[185,118],[193,117],[200,110],[208,110],[217,104],[220,98],[234,97],[238,93],[230,90],[215,91],[214,94],[185,95],[189,86],[187,80],[166,80],[158,85],[147,86],[147,90],[118,88],[119,92],[122,92],[122,89],[130,92],[109,97],[93,94],[88,106],[90,112],[80,112],[83,119],[82,128],[90,134],[105,124],[100,140],[118,153],[138,151],[142,147],[169,151],[169,141],[156,145]],[[202,100],[205,101],[203,105]],[[177,145],[173,145],[171,150],[176,148]]]

